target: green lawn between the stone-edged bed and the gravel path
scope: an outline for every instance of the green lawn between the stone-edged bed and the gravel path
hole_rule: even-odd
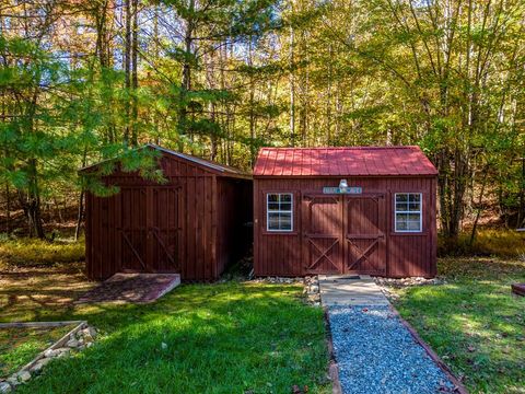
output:
[[[51,310],[48,318],[86,320],[103,334],[18,392],[289,393],[299,385],[328,393],[323,311],[305,305],[301,291],[188,285],[149,305]]]

